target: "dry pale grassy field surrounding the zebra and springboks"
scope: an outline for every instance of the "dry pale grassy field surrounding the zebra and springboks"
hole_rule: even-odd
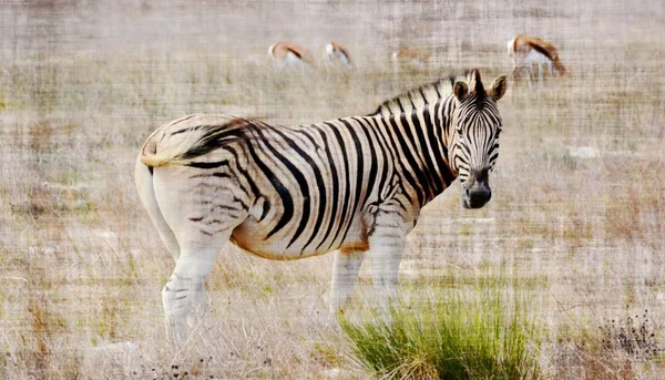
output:
[[[662,1],[160,4],[0,4],[0,378],[367,378],[326,311],[331,255],[227,246],[209,320],[170,348],[174,263],[135,194],[139,148],[187,113],[298,124],[469,68],[491,80],[521,32],[554,43],[572,76],[509,84],[492,202],[463,210],[456,184],[429,205],[400,286],[418,298],[492,278],[526,294],[544,378],[663,378]],[[336,40],[356,68],[280,72],[266,51],[283,39],[316,57]],[[433,54],[396,65],[400,47]],[[370,283],[364,266],[358,292]]]

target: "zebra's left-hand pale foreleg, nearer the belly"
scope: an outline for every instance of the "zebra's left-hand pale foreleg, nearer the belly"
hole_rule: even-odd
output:
[[[332,285],[330,287],[331,314],[339,311],[347,302],[351,292],[354,292],[358,270],[360,269],[364,258],[364,250],[340,249],[335,253]]]

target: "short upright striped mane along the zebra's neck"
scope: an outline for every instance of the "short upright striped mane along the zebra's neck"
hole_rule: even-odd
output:
[[[454,82],[466,82],[469,88],[474,89],[477,70],[466,71],[463,74],[450,75],[438,80],[437,82],[426,84],[418,89],[410,90],[403,94],[397,95],[390,100],[385,101],[379,107],[369,114],[369,116],[376,115],[390,115],[399,114],[405,111],[405,104],[408,104],[408,109],[420,109],[427,104],[437,102],[440,99],[447,97],[452,93],[452,86]]]

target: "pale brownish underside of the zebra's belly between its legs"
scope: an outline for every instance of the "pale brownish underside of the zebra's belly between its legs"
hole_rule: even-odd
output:
[[[337,249],[368,249],[366,234],[359,222],[351,225],[344,240],[335,244],[330,242],[320,244],[314,239],[314,243],[306,246],[299,240],[289,244],[288,234],[276,234],[268,237],[269,230],[265,227],[260,223],[247,219],[234,229],[231,242],[249,254],[272,260],[297,260]]]

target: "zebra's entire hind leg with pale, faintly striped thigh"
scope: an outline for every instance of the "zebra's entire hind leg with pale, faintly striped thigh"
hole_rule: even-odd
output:
[[[180,255],[162,290],[166,332],[176,347],[207,311],[205,281],[224,244],[247,217],[247,195],[226,166],[202,168],[166,166],[154,170],[157,206],[177,240]]]

